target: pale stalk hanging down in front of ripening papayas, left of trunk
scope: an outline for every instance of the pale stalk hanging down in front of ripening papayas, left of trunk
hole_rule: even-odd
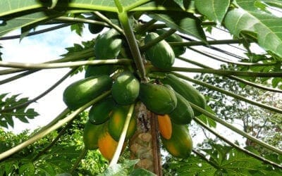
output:
[[[124,122],[123,131],[121,132],[121,137],[119,138],[119,141],[118,141],[118,146],[116,147],[116,151],[115,151],[114,156],[111,160],[111,163],[109,164],[109,167],[112,167],[112,166],[116,165],[116,163],[118,163],[118,158],[121,155],[121,151],[123,150],[123,144],[124,144],[124,141],[125,141],[126,132],[128,131],[130,119],[133,116],[134,107],[135,107],[135,104],[132,104],[129,108],[128,115],[126,116],[126,119],[125,119],[125,122]]]

